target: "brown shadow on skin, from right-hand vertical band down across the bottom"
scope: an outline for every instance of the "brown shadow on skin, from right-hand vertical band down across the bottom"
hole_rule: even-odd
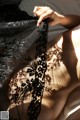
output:
[[[75,54],[73,43],[71,41],[71,33],[69,32],[68,35],[64,33],[63,36],[62,60],[71,77],[71,82],[67,85],[67,87],[62,88],[59,91],[52,91],[52,93],[48,94],[48,96],[44,96],[41,107],[41,113],[38,117],[38,120],[55,120],[63,110],[70,93],[75,88],[80,86],[80,82],[77,81],[78,78],[76,72],[77,57]],[[21,117],[23,120],[25,120],[27,117],[26,115],[28,105],[29,104],[26,103],[23,104],[23,106],[18,106],[20,115],[22,115]],[[10,113],[14,114],[14,116],[18,118],[15,107],[10,110]]]

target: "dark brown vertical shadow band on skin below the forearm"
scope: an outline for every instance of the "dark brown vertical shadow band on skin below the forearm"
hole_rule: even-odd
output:
[[[63,34],[63,44],[62,44],[62,60],[64,65],[66,66],[68,73],[73,81],[78,80],[77,77],[77,57],[75,53],[75,49],[71,39],[71,31]]]

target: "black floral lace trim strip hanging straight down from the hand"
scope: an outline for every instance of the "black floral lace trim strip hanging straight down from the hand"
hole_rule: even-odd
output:
[[[20,87],[16,85],[17,87],[13,88],[15,92],[13,90],[13,95],[10,98],[13,102],[17,103],[24,99],[25,94],[31,94],[32,99],[27,110],[29,120],[36,120],[41,109],[41,101],[45,85],[44,75],[47,69],[45,57],[47,43],[46,23],[43,24],[43,29],[39,29],[39,33],[39,39],[36,41],[36,65],[32,63],[27,69],[25,69],[24,74],[28,75],[26,81],[22,82]],[[21,72],[19,74],[21,75]]]

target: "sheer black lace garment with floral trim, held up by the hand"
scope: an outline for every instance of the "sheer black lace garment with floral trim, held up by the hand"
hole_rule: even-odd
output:
[[[22,84],[19,96],[14,95],[14,101],[24,97],[25,93],[32,92],[32,101],[28,108],[28,119],[37,120],[41,109],[41,100],[45,81],[43,80],[46,64],[46,43],[48,24],[46,21],[38,28],[37,18],[29,16],[16,5],[0,7],[0,89],[7,86],[11,78],[22,67],[26,66],[26,51],[36,42],[37,66],[31,65],[27,70],[30,75],[35,74],[35,79],[27,80]]]

